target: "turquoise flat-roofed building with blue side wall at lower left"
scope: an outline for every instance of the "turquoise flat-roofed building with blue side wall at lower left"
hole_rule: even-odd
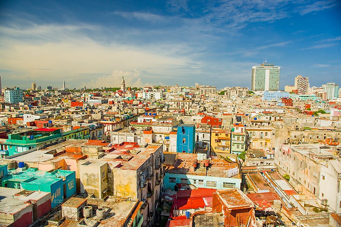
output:
[[[49,192],[51,207],[54,208],[76,193],[76,173],[70,170],[46,172],[38,168],[28,168],[16,173],[10,171],[1,178],[1,186]]]

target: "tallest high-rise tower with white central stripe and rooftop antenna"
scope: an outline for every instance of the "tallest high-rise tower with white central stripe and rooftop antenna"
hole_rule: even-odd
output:
[[[269,64],[266,60],[261,66],[251,69],[252,91],[277,91],[279,90],[280,67]]]

